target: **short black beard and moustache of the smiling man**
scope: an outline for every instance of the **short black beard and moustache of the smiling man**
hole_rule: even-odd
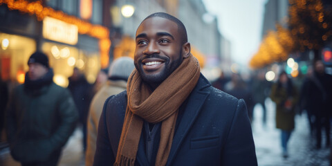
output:
[[[154,55],[149,55],[149,57],[157,57],[165,60],[164,62],[165,68],[163,69],[163,71],[160,71],[160,73],[154,75],[145,74],[142,69],[142,66],[135,63],[136,69],[140,73],[142,80],[149,84],[161,84],[161,82],[166,80],[166,78],[169,77],[169,75],[171,75],[173,71],[175,71],[176,68],[178,68],[178,66],[180,66],[180,64],[183,62],[182,55],[179,56],[178,59],[175,59],[174,62],[172,63],[170,63],[169,58],[166,59],[165,57],[160,57],[160,55],[154,54]],[[142,62],[140,62],[140,64],[142,64]]]

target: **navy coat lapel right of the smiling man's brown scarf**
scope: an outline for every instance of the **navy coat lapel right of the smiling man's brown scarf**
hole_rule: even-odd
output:
[[[203,75],[201,75],[195,89],[190,94],[187,107],[185,108],[183,117],[180,121],[180,124],[178,125],[178,129],[174,134],[171,151],[169,151],[167,165],[172,164],[172,160],[174,159],[174,156],[176,156],[178,148],[180,147],[183,139],[192,127],[192,124],[194,124],[196,117],[199,115],[201,107],[203,106],[208,95],[210,94],[207,91],[201,91],[201,89],[207,86],[210,86],[210,83],[208,82],[208,80],[205,79],[205,77],[203,77]]]

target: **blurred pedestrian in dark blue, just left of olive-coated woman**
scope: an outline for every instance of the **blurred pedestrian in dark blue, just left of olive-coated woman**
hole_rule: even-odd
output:
[[[265,78],[265,72],[259,71],[252,80],[252,95],[255,104],[261,104],[262,107],[262,122],[266,126],[266,105],[265,100],[270,95],[271,84]]]

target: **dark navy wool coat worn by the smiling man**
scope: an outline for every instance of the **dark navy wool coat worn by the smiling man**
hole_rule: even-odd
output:
[[[105,102],[94,165],[115,162],[126,107],[126,91]],[[149,165],[143,141],[141,136],[136,165]],[[167,165],[257,165],[246,103],[215,89],[201,75],[174,133]]]

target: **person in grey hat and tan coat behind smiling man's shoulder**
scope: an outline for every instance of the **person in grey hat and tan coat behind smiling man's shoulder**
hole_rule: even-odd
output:
[[[106,84],[95,94],[90,105],[88,119],[88,143],[85,156],[85,165],[93,165],[95,156],[95,143],[97,141],[97,131],[102,107],[109,96],[116,95],[127,89],[127,80],[135,66],[130,57],[120,57],[109,66],[109,73]]]

